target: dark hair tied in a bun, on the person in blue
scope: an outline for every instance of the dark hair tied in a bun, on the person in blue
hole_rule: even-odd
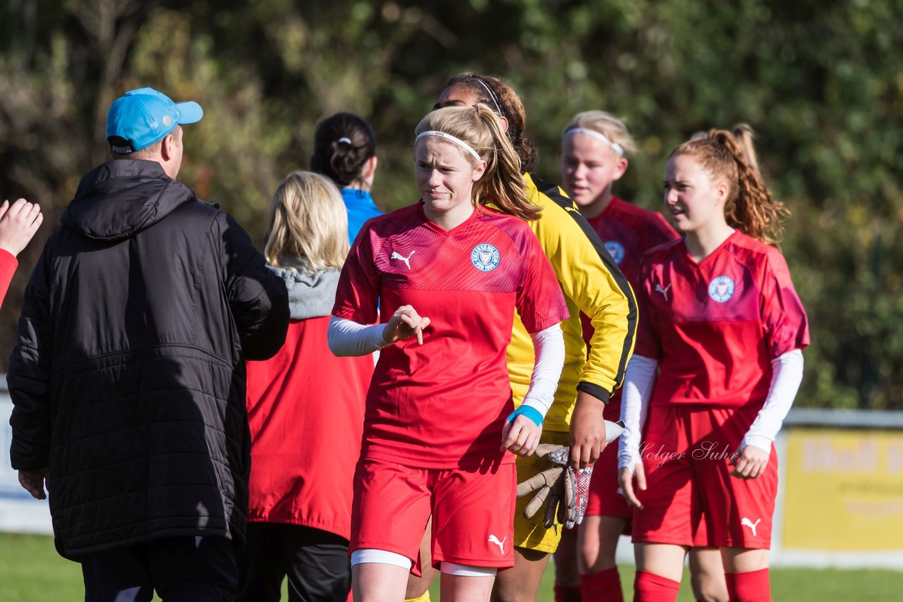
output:
[[[311,171],[345,188],[363,180],[364,166],[376,153],[377,135],[367,121],[352,113],[337,113],[317,125]]]

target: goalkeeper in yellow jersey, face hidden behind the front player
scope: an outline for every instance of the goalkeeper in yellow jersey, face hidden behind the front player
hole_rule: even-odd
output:
[[[611,260],[599,236],[582,217],[573,200],[558,186],[546,184],[530,173],[538,161],[534,145],[526,137],[526,108],[517,91],[506,81],[464,72],[445,82],[436,107],[471,107],[484,103],[496,112],[520,156],[527,198],[541,208],[539,219],[529,222],[548,257],[571,318],[562,323],[565,362],[554,403],[544,423],[543,443],[570,446],[573,468],[585,468],[605,447],[603,411],[610,395],[620,386],[633,348],[637,304],[630,285]],[[594,332],[587,354],[583,342],[581,312],[590,317]],[[526,393],[534,357],[523,324],[515,323],[507,350],[508,377],[515,403]],[[549,468],[547,458],[517,458],[519,482]],[[515,568],[499,574],[493,597],[532,600],[539,591],[546,564],[557,549],[562,529],[545,527],[545,512],[525,516],[530,496],[519,498],[515,513]],[[428,599],[428,579],[411,579],[408,599]],[[556,597],[563,595],[556,586]],[[557,599],[557,598],[556,598]]]

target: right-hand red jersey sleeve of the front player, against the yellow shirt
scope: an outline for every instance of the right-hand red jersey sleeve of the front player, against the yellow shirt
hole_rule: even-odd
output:
[[[524,262],[517,286],[517,315],[527,332],[539,332],[571,316],[558,279],[532,231],[527,231],[521,244]]]

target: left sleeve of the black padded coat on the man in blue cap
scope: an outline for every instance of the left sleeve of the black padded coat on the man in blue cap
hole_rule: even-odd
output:
[[[9,359],[6,383],[13,398],[13,445],[16,470],[49,465],[51,448],[51,324],[47,255],[41,255],[25,289],[18,344]]]

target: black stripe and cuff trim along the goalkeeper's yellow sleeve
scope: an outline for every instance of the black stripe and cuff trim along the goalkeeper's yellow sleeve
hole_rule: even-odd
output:
[[[630,345],[637,331],[637,300],[633,296],[633,291],[630,289],[627,278],[625,278],[624,274],[621,273],[618,264],[615,263],[614,259],[611,258],[608,249],[606,249],[605,245],[602,244],[602,239],[599,237],[596,231],[592,229],[590,222],[588,222],[586,218],[582,216],[580,209],[577,208],[573,200],[568,199],[568,197],[564,194],[564,191],[559,187],[552,184],[547,184],[544,181],[539,180],[532,173],[530,174],[530,177],[533,179],[533,183],[535,184],[537,190],[545,194],[545,196],[549,199],[554,200],[554,202],[559,207],[563,208],[573,218],[577,225],[581,227],[583,234],[585,234],[586,237],[590,239],[593,248],[595,248],[596,252],[599,254],[602,263],[605,264],[605,267],[608,268],[612,278],[614,278],[615,282],[618,283],[621,292],[623,292],[624,296],[627,297],[629,309],[627,316],[628,332],[627,337],[624,340],[624,347],[621,350],[620,361],[618,363],[618,374],[615,376],[614,388],[617,389],[624,382],[624,371],[627,369],[627,362],[630,358]],[[598,384],[586,382],[581,382],[580,384],[578,384],[577,390],[598,397],[605,403],[609,403],[608,397],[610,394],[614,393],[614,391],[606,392],[605,389],[600,387]],[[603,397],[599,394],[600,392],[606,393],[606,395]]]

